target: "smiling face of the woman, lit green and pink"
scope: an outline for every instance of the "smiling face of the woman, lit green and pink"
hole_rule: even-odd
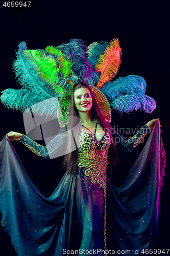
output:
[[[92,107],[92,98],[88,88],[79,88],[75,91],[75,104],[78,111],[87,112]]]

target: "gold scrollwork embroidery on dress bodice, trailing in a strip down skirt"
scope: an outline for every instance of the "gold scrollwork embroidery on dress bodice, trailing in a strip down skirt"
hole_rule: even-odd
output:
[[[98,147],[100,145],[100,154]],[[96,138],[88,133],[80,133],[78,166],[86,167],[85,175],[90,178],[91,183],[99,183],[104,188],[104,243],[106,251],[106,169],[108,165],[107,153],[110,146],[110,137],[106,133],[102,142],[98,143]]]

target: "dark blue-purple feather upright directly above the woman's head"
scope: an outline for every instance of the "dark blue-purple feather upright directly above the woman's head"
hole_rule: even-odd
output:
[[[89,61],[86,58],[86,46],[81,39],[71,39],[68,44],[62,44],[57,47],[60,49],[65,58],[70,56],[74,67],[73,72],[76,73],[82,80],[87,80],[91,76],[92,69]]]

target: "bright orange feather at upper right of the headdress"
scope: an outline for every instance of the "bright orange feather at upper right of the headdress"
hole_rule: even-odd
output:
[[[96,72],[101,72],[98,87],[102,87],[105,82],[110,81],[117,74],[120,66],[122,50],[119,47],[118,39],[111,41],[105,52],[101,55],[98,63],[95,65]]]

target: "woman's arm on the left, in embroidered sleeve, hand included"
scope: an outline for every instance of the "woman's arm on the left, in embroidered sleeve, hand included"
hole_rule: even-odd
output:
[[[44,159],[57,153],[65,144],[67,138],[67,126],[62,127],[57,136],[46,146],[42,146],[24,134],[10,132],[6,135],[10,141],[18,140],[29,148],[34,154]]]

